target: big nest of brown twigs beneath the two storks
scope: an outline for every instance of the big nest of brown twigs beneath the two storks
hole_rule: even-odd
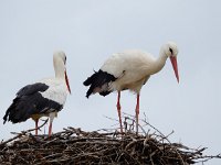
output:
[[[0,162],[4,165],[188,165],[221,158],[220,155],[203,155],[204,147],[194,150],[180,143],[171,143],[168,140],[171,133],[164,135],[147,122],[146,125],[154,129],[154,132],[145,132],[141,128],[143,132],[136,134],[133,125],[125,122],[124,134],[116,130],[85,132],[71,127],[50,138],[32,135],[33,130],[23,131],[0,143]]]

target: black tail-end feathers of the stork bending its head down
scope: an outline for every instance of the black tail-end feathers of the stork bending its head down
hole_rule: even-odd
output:
[[[112,92],[109,89],[109,84],[115,81],[116,78],[103,70],[95,72],[91,77],[88,77],[83,84],[84,86],[90,86],[90,89],[86,92],[88,98],[92,94],[99,92],[102,96],[106,96]]]

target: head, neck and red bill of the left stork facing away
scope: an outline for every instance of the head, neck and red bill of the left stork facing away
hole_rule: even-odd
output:
[[[53,62],[54,62],[54,70],[55,70],[55,77],[59,78],[65,78],[66,87],[71,94],[71,88],[69,85],[69,77],[66,75],[66,55],[63,51],[54,52],[53,55]]]

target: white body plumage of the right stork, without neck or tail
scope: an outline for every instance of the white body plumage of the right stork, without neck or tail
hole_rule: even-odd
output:
[[[139,92],[144,82],[152,74],[151,68],[155,61],[148,53],[136,50],[125,51],[113,54],[101,69],[118,78],[110,85],[110,89],[127,88]]]

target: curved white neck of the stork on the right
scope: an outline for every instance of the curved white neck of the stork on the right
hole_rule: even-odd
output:
[[[162,67],[165,66],[167,58],[168,58],[168,56],[165,54],[164,47],[161,47],[160,52],[159,52],[159,57],[152,64],[152,73],[151,74],[156,74],[156,73],[160,72],[162,69]]]

